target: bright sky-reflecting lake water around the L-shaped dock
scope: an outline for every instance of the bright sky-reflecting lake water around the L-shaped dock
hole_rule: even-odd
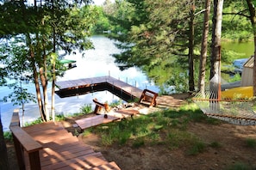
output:
[[[138,68],[130,68],[128,70],[119,70],[115,64],[115,58],[111,56],[113,53],[119,53],[120,50],[116,48],[115,41],[105,38],[103,36],[93,36],[91,38],[95,49],[85,52],[84,58],[82,54],[77,52],[76,55],[66,56],[67,59],[72,59],[77,61],[77,67],[72,70],[67,70],[65,76],[59,77],[57,81],[75,80],[80,78],[89,78],[96,76],[113,76],[123,82],[128,82],[129,84],[136,86],[137,88],[144,89],[148,88],[155,92],[159,92],[159,88],[154,86],[153,82],[147,80],[147,76]],[[33,83],[22,83],[22,87],[28,88],[28,90],[34,93]],[[1,97],[8,95],[10,93],[9,88],[1,87],[0,94]],[[51,95],[51,84],[49,84],[48,94]],[[115,95],[110,94],[108,91],[97,92],[93,94],[79,95],[75,97],[59,98],[55,95],[55,108],[56,114],[72,114],[79,112],[81,106],[94,105],[92,104],[92,99],[97,98],[97,100],[108,103],[112,101],[119,100]],[[0,103],[1,106],[1,118],[3,123],[3,131],[9,130],[9,123],[12,112],[15,108],[21,106],[13,106],[11,102]],[[22,110],[20,110],[20,114]],[[40,117],[38,111],[38,105],[35,103],[28,103],[25,105],[25,116],[24,122],[31,122],[36,118]],[[22,120],[22,118],[21,118]]]

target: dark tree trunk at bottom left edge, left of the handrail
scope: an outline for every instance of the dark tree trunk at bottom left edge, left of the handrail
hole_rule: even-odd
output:
[[[3,137],[3,124],[0,115],[0,170],[9,170],[7,148]]]

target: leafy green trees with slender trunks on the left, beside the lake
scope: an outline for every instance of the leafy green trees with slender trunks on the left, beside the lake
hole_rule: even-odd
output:
[[[64,56],[59,52],[66,55],[93,48],[88,37],[96,23],[97,10],[87,5],[91,0],[34,2],[33,6],[25,1],[4,1],[0,4],[0,38],[4,38],[0,43],[0,59],[4,68],[0,71],[3,72],[1,76],[5,76],[3,80],[9,78],[16,83],[28,74],[36,87],[41,86],[41,90],[37,88],[36,96],[46,99],[46,93],[41,91],[46,92],[48,81],[56,81],[56,76],[63,75],[63,65],[59,60]],[[26,89],[14,88],[9,97],[16,104],[34,100]],[[38,102],[41,99],[38,98]],[[48,118],[44,115],[47,112],[42,112],[47,110],[45,102],[41,104],[42,119]]]

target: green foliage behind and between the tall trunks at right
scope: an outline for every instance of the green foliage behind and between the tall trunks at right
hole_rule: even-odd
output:
[[[122,49],[122,54],[114,55],[116,62],[121,65],[121,69],[134,65],[142,68],[149,79],[160,87],[160,94],[188,90],[190,3],[191,1],[128,0],[103,6],[103,11],[109,17],[108,21],[113,25],[109,36],[119,40],[117,46]],[[201,11],[202,1],[195,1],[195,7],[196,13]],[[251,23],[245,17],[248,15],[247,11],[244,2],[224,3],[224,39],[241,41],[253,38]],[[198,13],[195,16],[195,77],[199,68],[202,23],[203,13]],[[231,64],[234,58],[240,58],[240,54],[224,52],[222,49],[222,63]],[[209,64],[210,61],[207,62],[206,70],[209,70]],[[209,71],[206,72],[206,82],[208,77]],[[239,79],[235,76],[232,82]]]

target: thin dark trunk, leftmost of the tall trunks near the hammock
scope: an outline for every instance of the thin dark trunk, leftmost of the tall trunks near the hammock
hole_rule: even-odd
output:
[[[194,18],[195,18],[195,0],[192,0],[191,9],[190,9],[190,45],[189,45],[189,90],[195,91],[195,78],[194,78],[194,36],[195,36],[195,27],[194,27]]]

